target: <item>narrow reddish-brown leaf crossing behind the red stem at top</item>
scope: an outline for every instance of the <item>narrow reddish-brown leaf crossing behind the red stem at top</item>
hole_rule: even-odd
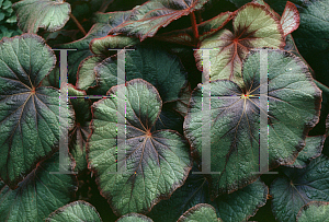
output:
[[[219,31],[232,19],[232,12],[222,12],[211,20],[197,24],[196,27],[200,35],[198,40],[203,40],[207,36],[211,36],[215,32]],[[192,27],[156,35],[155,38],[188,46],[194,46],[195,44]]]

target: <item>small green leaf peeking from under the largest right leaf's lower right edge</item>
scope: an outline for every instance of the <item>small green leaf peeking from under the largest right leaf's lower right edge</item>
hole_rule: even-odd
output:
[[[305,167],[311,159],[316,159],[321,154],[326,137],[306,137],[305,148],[298,153],[296,161],[292,165],[286,165],[288,167]]]

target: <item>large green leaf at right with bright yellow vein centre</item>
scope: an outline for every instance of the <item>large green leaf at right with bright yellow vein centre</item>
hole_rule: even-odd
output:
[[[269,166],[293,163],[308,130],[319,119],[321,92],[303,61],[283,50],[269,50]],[[212,81],[212,199],[231,192],[259,176],[260,52],[243,62],[243,86],[229,80]],[[300,90],[303,89],[303,90]],[[184,135],[193,153],[202,156],[202,84],[192,93]],[[292,115],[293,114],[293,115]],[[234,173],[232,173],[234,172]]]

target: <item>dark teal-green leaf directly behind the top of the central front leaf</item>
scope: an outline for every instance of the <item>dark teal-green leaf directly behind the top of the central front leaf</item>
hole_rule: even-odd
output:
[[[179,98],[181,89],[186,83],[186,72],[177,56],[160,47],[147,45],[126,51],[125,59],[126,81],[137,78],[148,81],[159,91],[163,102]],[[110,87],[117,84],[117,60],[110,57],[94,70],[98,86],[91,93],[105,95]]]

